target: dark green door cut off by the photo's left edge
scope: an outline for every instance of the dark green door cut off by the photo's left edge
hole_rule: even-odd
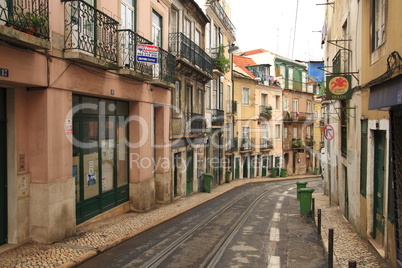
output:
[[[6,91],[0,89],[0,245],[7,243]]]

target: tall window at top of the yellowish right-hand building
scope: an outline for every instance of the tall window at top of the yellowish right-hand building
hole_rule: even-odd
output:
[[[385,42],[385,4],[386,0],[373,0],[373,51]]]

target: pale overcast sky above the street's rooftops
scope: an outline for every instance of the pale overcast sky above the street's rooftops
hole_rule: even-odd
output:
[[[322,60],[325,0],[226,0],[240,51],[264,48],[295,60]],[[295,27],[296,26],[296,27]],[[294,38],[294,29],[296,36]],[[294,45],[293,45],[293,41]]]

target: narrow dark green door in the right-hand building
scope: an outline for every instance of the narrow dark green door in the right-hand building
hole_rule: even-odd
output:
[[[384,171],[385,131],[374,131],[374,232],[373,238],[382,242],[384,235]]]

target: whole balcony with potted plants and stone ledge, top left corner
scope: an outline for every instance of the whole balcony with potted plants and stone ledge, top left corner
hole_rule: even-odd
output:
[[[0,1],[0,38],[33,49],[50,49],[48,0]]]

